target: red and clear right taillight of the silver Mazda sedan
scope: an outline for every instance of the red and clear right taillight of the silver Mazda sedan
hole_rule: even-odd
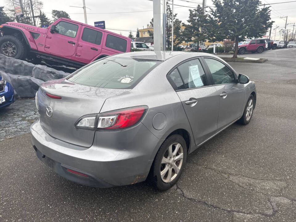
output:
[[[137,125],[147,112],[148,106],[118,109],[81,117],[76,128],[98,131],[124,130]]]

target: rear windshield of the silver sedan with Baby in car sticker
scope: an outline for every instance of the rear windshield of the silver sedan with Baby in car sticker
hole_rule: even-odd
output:
[[[156,60],[109,57],[80,69],[68,80],[93,87],[131,89],[160,63]]]

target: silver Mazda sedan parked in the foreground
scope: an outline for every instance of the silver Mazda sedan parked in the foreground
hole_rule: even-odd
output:
[[[207,53],[142,51],[95,61],[36,93],[31,125],[38,158],[93,187],[138,183],[160,190],[187,155],[232,123],[246,125],[256,88]]]

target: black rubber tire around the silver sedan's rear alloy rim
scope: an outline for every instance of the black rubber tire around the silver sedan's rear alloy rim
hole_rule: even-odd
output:
[[[162,161],[162,158],[165,155],[168,147],[175,142],[180,143],[183,148],[183,162],[182,162],[181,169],[180,169],[179,173],[177,174],[177,176],[175,177],[175,179],[173,179],[169,183],[165,183],[164,181],[162,181],[161,176],[160,176],[161,161]],[[156,188],[158,188],[158,190],[165,191],[165,190],[170,189],[180,178],[180,176],[184,170],[184,167],[185,167],[186,158],[187,158],[187,146],[186,146],[186,142],[185,142],[184,138],[179,134],[173,134],[173,135],[169,136],[162,143],[162,145],[160,146],[160,148],[154,158],[154,161],[152,163],[150,173],[149,173],[150,182]]]

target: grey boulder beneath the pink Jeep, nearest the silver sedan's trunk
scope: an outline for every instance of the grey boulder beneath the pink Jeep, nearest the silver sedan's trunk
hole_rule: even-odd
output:
[[[68,76],[69,73],[65,73],[63,71],[57,71],[53,68],[49,68],[44,65],[35,65],[32,70],[32,77],[43,80],[44,82],[55,80],[55,79],[62,79]]]

